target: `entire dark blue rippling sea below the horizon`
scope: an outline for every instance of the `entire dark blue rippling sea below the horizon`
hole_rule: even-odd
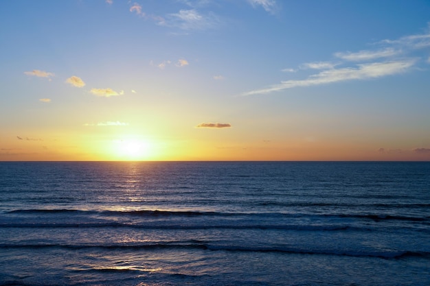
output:
[[[0,163],[0,285],[430,285],[430,163]]]

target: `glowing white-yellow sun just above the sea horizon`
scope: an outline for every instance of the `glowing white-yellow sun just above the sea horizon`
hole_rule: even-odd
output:
[[[121,160],[145,160],[150,156],[150,144],[142,139],[117,140],[114,148]]]

